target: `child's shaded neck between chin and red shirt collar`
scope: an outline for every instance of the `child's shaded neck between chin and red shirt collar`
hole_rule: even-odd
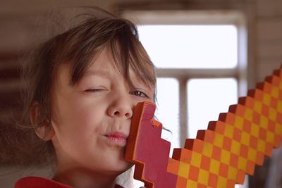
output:
[[[58,170],[53,180],[75,188],[114,188],[116,176],[85,169]]]

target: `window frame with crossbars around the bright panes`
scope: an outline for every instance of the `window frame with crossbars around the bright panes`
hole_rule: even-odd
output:
[[[238,96],[247,93],[247,23],[240,11],[124,11],[136,25],[235,25],[238,29],[238,64],[235,68],[156,68],[157,77],[179,82],[180,146],[188,138],[187,82],[197,78],[235,78]]]

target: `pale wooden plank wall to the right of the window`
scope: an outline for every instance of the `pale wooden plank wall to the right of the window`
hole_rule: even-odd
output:
[[[257,0],[256,14],[255,80],[262,80],[282,64],[282,1]]]

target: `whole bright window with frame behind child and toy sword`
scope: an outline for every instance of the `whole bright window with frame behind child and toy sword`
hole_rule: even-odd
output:
[[[157,67],[156,115],[171,131],[162,133],[171,148],[183,147],[186,138],[206,130],[246,94],[247,39],[240,13],[128,11],[124,16],[138,25]]]

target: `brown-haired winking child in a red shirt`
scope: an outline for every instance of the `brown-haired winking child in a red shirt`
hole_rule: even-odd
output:
[[[135,25],[88,15],[30,57],[23,66],[23,115],[37,148],[30,161],[56,170],[52,180],[25,177],[15,187],[119,187],[116,177],[132,166],[124,151],[133,108],[154,101],[156,84]]]

